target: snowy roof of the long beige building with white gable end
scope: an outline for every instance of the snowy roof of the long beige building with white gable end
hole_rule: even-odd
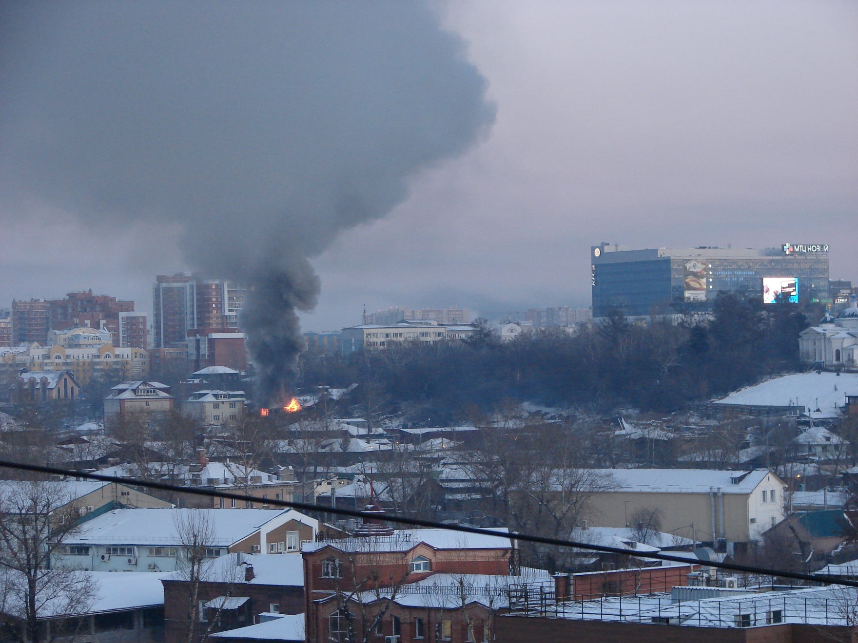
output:
[[[714,469],[596,469],[604,473],[613,491],[624,493],[706,493],[721,488],[725,494],[749,494],[766,476],[783,484],[768,469],[751,472]]]

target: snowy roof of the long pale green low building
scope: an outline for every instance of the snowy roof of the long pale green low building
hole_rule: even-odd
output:
[[[171,545],[181,544],[178,524],[191,514],[205,512],[214,533],[213,547],[228,547],[260,527],[289,514],[287,520],[318,528],[318,521],[293,509],[113,509],[83,523],[79,532],[65,538],[67,544]]]

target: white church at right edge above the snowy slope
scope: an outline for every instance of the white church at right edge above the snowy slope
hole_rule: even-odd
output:
[[[818,326],[799,334],[802,362],[825,367],[858,368],[858,305],[855,297],[837,317],[825,314]]]

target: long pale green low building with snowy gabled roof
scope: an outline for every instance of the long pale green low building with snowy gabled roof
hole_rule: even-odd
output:
[[[205,532],[206,556],[233,552],[299,553],[318,521],[293,509],[116,509],[88,520],[63,540],[57,563],[112,572],[172,572],[184,557],[188,532]]]

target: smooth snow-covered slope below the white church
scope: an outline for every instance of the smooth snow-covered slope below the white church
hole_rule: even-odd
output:
[[[846,404],[847,394],[858,394],[858,373],[798,373],[742,388],[716,404],[802,406],[834,418]]]

